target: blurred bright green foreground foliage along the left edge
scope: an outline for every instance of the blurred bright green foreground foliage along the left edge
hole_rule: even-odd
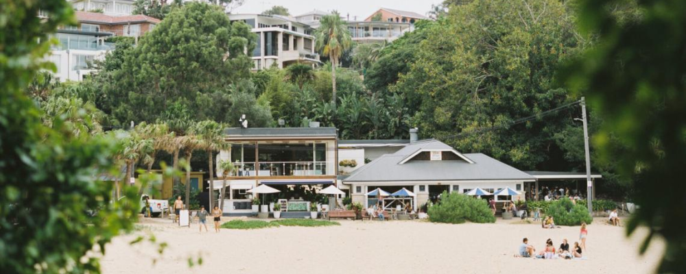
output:
[[[95,254],[137,216],[134,203],[111,199],[112,184],[93,176],[112,166],[114,142],[75,138],[59,117],[45,127],[25,90],[39,70],[55,71],[49,35],[73,21],[73,9],[10,0],[0,18],[0,273],[99,273]]]

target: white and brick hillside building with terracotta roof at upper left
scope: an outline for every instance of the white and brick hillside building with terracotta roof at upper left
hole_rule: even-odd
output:
[[[60,82],[81,81],[93,72],[93,61],[104,58],[114,49],[114,43],[106,42],[113,36],[138,38],[150,31],[160,21],[142,14],[110,16],[95,12],[75,12],[78,24],[62,26],[54,35],[58,45],[51,49],[49,60],[57,66],[55,77]]]

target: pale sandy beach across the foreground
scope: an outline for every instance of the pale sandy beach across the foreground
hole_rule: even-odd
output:
[[[228,221],[228,218],[223,218]],[[654,240],[645,256],[638,247],[645,230],[626,238],[623,227],[589,225],[588,260],[513,258],[521,238],[536,250],[552,238],[570,246],[579,227],[542,229],[540,224],[434,224],[420,221],[340,221],[338,227],[222,229],[215,234],[178,227],[169,220],[141,222],[169,247],[162,256],[154,246],[131,246],[135,234],[108,245],[102,268],[114,273],[652,273],[664,249]],[[210,221],[210,220],[208,220]],[[137,232],[145,234],[145,232]],[[189,269],[188,258],[202,256]],[[156,264],[152,261],[158,259]]]

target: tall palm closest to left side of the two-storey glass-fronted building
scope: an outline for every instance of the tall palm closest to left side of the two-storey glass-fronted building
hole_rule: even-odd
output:
[[[202,140],[200,147],[207,151],[207,163],[210,169],[210,208],[213,208],[213,192],[214,192],[214,151],[228,147],[228,143],[224,142],[222,138],[223,125],[215,121],[202,121],[197,123],[191,132],[196,134]]]

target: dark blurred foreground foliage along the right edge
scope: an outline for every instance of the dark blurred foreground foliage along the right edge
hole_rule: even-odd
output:
[[[604,115],[604,127],[593,136],[603,158],[615,159],[624,178],[636,178],[632,198],[641,207],[627,224],[628,234],[639,225],[650,229],[641,253],[661,236],[667,247],[657,272],[681,273],[686,268],[686,2],[636,1],[638,11],[627,10],[639,19],[623,21],[613,8],[626,2],[580,1],[581,29],[599,40],[567,68],[563,80]],[[626,149],[617,153],[613,136]]]

